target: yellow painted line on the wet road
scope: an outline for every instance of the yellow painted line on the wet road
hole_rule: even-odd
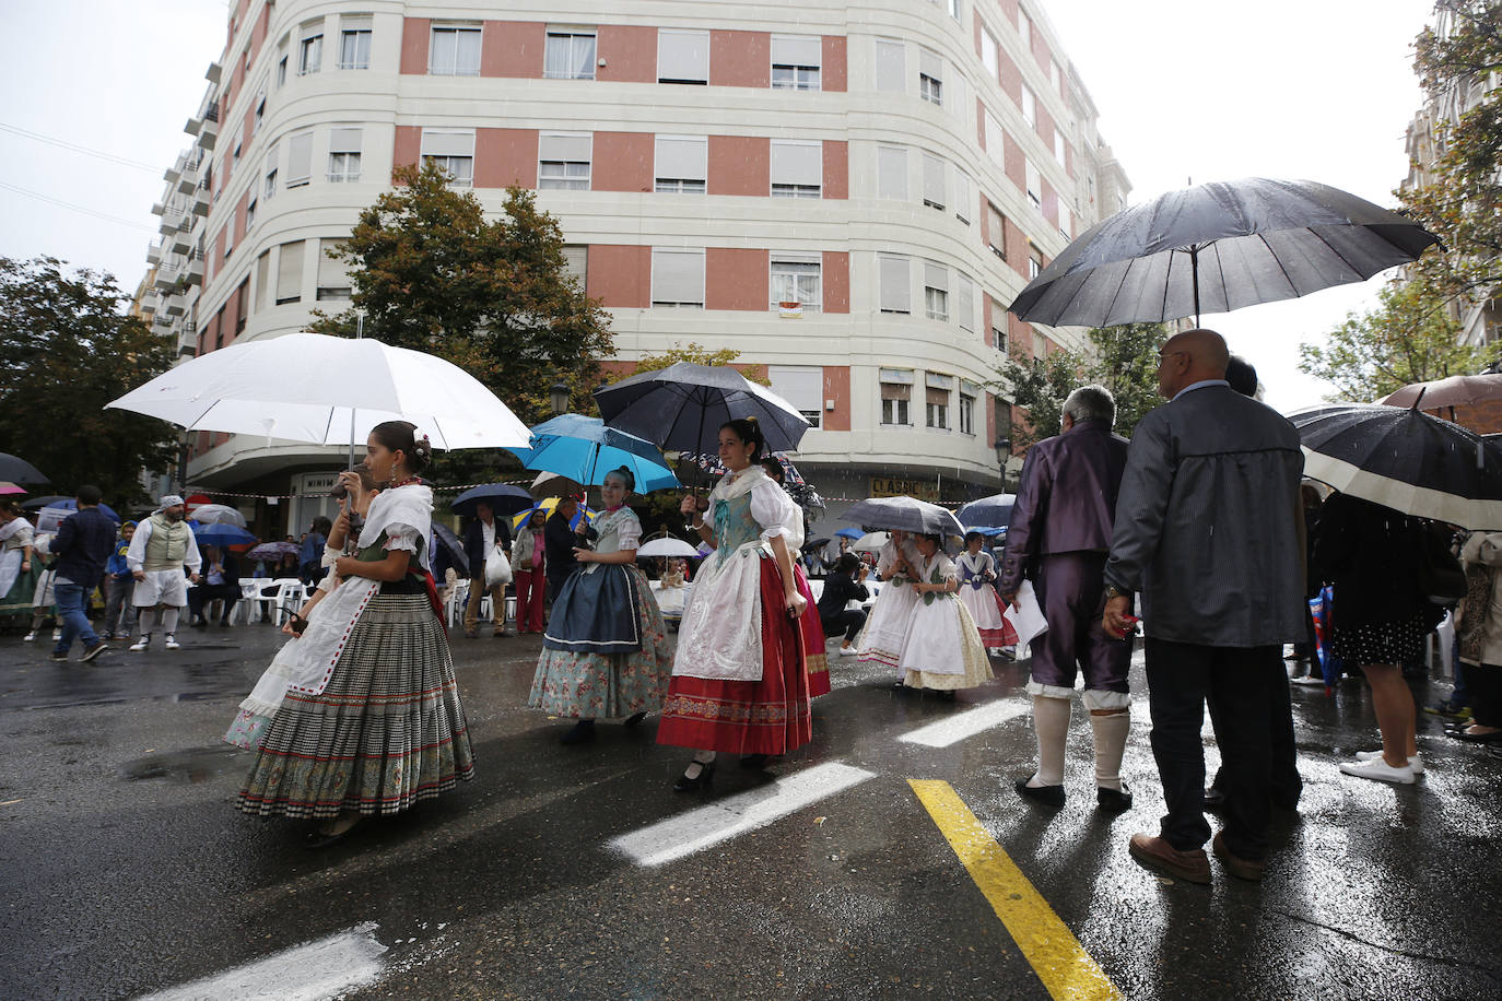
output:
[[[1054,1001],[1119,999],[1122,993],[1105,971],[1090,959],[949,783],[909,779],[907,785],[913,786],[913,794],[943,831]]]

